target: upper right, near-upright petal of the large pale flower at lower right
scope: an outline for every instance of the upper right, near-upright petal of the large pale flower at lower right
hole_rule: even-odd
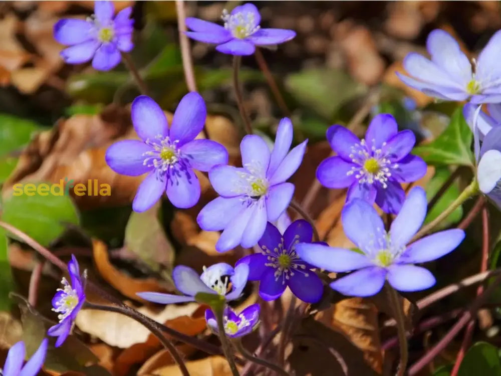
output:
[[[391,242],[395,247],[405,246],[421,228],[427,210],[426,192],[415,186],[410,190],[402,209],[390,227]]]

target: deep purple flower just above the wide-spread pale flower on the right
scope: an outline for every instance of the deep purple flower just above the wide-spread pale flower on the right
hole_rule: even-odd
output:
[[[426,163],[409,154],[414,133],[397,128],[390,114],[376,115],[362,140],[341,125],[331,126],[327,140],[338,155],[320,163],[317,178],[328,188],[349,187],[347,202],[359,198],[376,202],[386,213],[398,213],[405,200],[400,183],[423,177]]]

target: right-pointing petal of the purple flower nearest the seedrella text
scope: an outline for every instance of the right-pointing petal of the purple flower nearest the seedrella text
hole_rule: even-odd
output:
[[[181,146],[181,152],[189,158],[191,167],[207,172],[216,164],[228,163],[228,152],[219,142],[205,139],[189,141]]]

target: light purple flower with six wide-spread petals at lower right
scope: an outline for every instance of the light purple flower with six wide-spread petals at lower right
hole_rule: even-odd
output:
[[[390,231],[376,210],[362,200],[346,205],[341,215],[346,236],[360,252],[320,244],[300,243],[299,256],[336,273],[354,271],[330,284],[344,295],[372,296],[387,280],[399,291],[420,291],[435,284],[435,277],[425,268],[415,266],[432,261],[454,250],[464,239],[464,231],[445,230],[407,245],[426,217],[426,194],[414,187],[407,196]]]

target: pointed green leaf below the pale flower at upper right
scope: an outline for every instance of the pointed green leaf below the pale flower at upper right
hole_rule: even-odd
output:
[[[472,166],[472,138],[473,134],[464,120],[461,108],[457,108],[447,128],[431,143],[415,147],[413,153],[429,164]]]

